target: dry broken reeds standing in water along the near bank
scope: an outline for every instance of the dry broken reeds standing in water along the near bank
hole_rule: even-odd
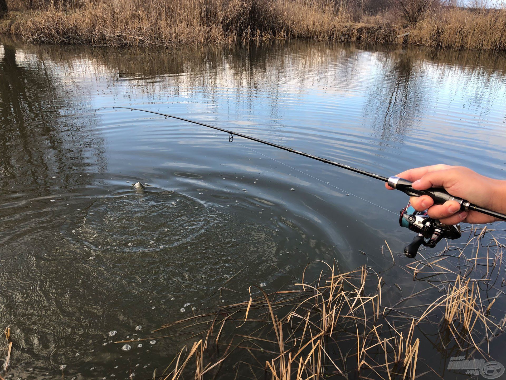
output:
[[[366,265],[340,273],[337,262],[317,261],[285,289],[252,286],[248,300],[162,326],[146,339],[176,339],[181,349],[153,378],[440,378],[419,350],[428,336],[442,353],[492,360],[489,342],[506,323],[494,310],[505,295],[504,245],[487,227],[466,233],[465,244],[407,264],[387,245],[391,269],[418,285],[409,295]]]

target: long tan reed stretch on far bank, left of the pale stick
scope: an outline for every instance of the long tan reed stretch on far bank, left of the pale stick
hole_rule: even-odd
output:
[[[29,41],[130,46],[394,38],[392,30],[352,23],[343,6],[310,0],[93,0],[70,9],[49,5],[18,29]]]

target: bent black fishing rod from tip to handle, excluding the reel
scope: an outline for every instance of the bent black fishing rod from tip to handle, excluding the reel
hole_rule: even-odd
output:
[[[260,142],[261,144],[265,144],[265,145],[273,146],[273,147],[278,148],[278,149],[286,150],[286,151],[288,151],[290,153],[295,153],[297,155],[304,156],[304,157],[307,157],[307,158],[310,158],[310,159],[313,159],[313,160],[316,160],[316,161],[320,161],[320,162],[323,162],[325,164],[330,164],[330,165],[333,165],[333,166],[340,167],[342,169],[350,170],[350,171],[358,173],[358,174],[366,175],[366,176],[371,177],[371,178],[379,179],[379,180],[381,180],[383,182],[387,182],[390,187],[393,187],[393,188],[395,188],[397,190],[400,190],[401,192],[407,194],[410,197],[421,197],[423,195],[428,195],[429,197],[431,197],[434,200],[435,204],[443,204],[446,201],[457,201],[460,204],[460,210],[462,210],[462,211],[468,211],[468,210],[478,211],[478,212],[481,212],[482,214],[490,215],[490,216],[493,216],[493,217],[501,219],[501,220],[506,220],[506,215],[501,214],[499,212],[487,210],[486,208],[474,205],[471,202],[466,201],[465,199],[454,197],[454,196],[450,195],[448,192],[446,192],[444,188],[433,187],[433,188],[430,188],[430,189],[427,189],[427,190],[417,190],[417,189],[414,189],[411,186],[412,182],[410,182],[410,181],[408,181],[407,179],[404,179],[404,178],[399,178],[399,177],[395,177],[395,176],[392,176],[390,178],[384,177],[382,175],[370,173],[370,172],[367,172],[367,171],[362,170],[362,169],[357,169],[357,168],[351,167],[349,165],[341,164],[339,162],[335,162],[335,161],[327,160],[325,158],[321,158],[321,157],[318,157],[318,156],[310,155],[308,153],[304,153],[303,151],[292,149],[292,148],[289,148],[287,146],[275,144],[275,143],[270,142],[270,141],[265,141],[265,140],[261,140],[261,139],[256,138],[256,137],[252,137],[252,136],[248,136],[248,135],[243,135],[242,133],[237,133],[237,132],[234,132],[234,131],[229,131],[227,129],[215,127],[213,125],[204,124],[204,123],[200,123],[200,122],[197,122],[197,121],[180,118],[178,116],[167,115],[166,113],[161,113],[161,112],[156,112],[156,111],[150,111],[150,110],[147,110],[147,109],[133,108],[133,107],[112,106],[112,107],[104,107],[104,108],[123,108],[123,109],[130,109],[130,110],[141,111],[141,112],[148,112],[148,113],[153,113],[154,115],[163,116],[163,117],[165,117],[165,119],[172,118],[172,119],[181,120],[181,121],[184,121],[184,122],[187,122],[187,123],[197,124],[197,125],[200,125],[200,126],[203,126],[203,127],[207,127],[207,128],[216,129],[217,131],[228,133],[228,135],[229,135],[229,141],[230,142],[233,141],[234,136],[238,136],[238,137],[242,137],[242,138],[245,138],[245,139],[248,139],[248,140]]]

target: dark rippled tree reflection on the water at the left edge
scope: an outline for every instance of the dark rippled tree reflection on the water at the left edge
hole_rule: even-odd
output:
[[[4,191],[10,188],[22,193],[32,186],[49,187],[51,173],[70,174],[85,165],[82,150],[90,145],[98,150],[97,164],[103,167],[100,139],[93,138],[91,144],[92,138],[79,134],[81,128],[63,115],[62,124],[55,123],[55,113],[80,107],[75,94],[61,85],[58,69],[30,64],[35,57],[31,49],[20,49],[8,40],[0,42],[4,51],[0,60],[0,181]]]

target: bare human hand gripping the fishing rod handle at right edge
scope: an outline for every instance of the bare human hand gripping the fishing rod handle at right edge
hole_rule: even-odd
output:
[[[397,177],[412,181],[413,188],[418,190],[444,187],[452,196],[468,200],[475,205],[502,213],[506,211],[506,181],[485,177],[465,167],[425,166],[406,170],[397,174]],[[388,184],[385,186],[392,190]],[[427,210],[431,218],[439,219],[444,224],[489,223],[499,220],[477,211],[460,211],[460,205],[456,201],[434,205],[428,195],[411,197],[410,202],[415,210]]]

